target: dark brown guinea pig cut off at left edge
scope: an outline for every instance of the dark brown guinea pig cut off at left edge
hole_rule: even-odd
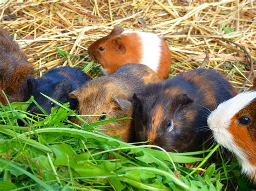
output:
[[[8,31],[0,27],[0,102],[6,104],[2,90],[9,102],[26,101],[29,98],[26,80],[32,76],[33,65],[26,55],[9,36]]]

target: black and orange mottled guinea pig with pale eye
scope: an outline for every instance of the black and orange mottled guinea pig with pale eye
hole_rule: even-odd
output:
[[[230,83],[210,69],[151,84],[133,96],[136,141],[149,140],[166,151],[197,150],[210,112],[234,95]]]

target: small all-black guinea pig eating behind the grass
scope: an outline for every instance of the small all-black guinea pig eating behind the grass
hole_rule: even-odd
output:
[[[75,109],[77,100],[70,99],[69,93],[83,86],[91,78],[78,68],[60,67],[46,72],[41,78],[28,79],[29,94],[32,95],[41,107],[51,113],[51,108],[58,105],[44,97],[41,93],[62,103],[69,102],[70,108]],[[31,112],[42,114],[42,111],[32,103],[29,107]]]

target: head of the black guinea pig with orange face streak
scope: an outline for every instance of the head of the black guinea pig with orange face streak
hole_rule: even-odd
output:
[[[134,130],[138,142],[149,140],[166,151],[190,150],[193,137],[193,100],[187,94],[133,95]]]

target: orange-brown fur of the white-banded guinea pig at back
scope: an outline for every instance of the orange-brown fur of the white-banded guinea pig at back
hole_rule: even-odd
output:
[[[91,59],[99,62],[108,75],[126,63],[142,62],[140,37],[137,33],[121,34],[123,31],[122,27],[116,26],[108,36],[95,41],[88,48]],[[120,39],[118,45],[116,39]],[[99,51],[99,47],[105,47],[104,51]],[[171,68],[171,52],[163,39],[158,68],[157,75],[160,79],[167,79]]]

